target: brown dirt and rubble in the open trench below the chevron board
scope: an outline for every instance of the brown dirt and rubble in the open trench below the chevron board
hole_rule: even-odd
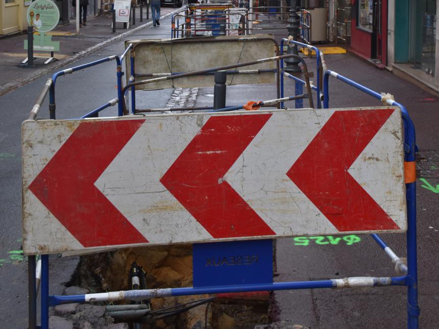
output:
[[[128,273],[133,261],[147,272],[148,288],[192,286],[191,245],[151,246],[82,256],[65,293],[128,290]],[[151,309],[160,310],[207,297],[209,296],[154,298],[151,300]],[[268,325],[276,320],[277,312],[273,300],[273,295],[269,292],[218,294],[209,303],[155,320],[151,324],[143,324],[143,328],[254,328],[255,325]],[[89,319],[90,314],[94,320]],[[113,319],[105,313],[103,304],[57,306],[51,319],[54,316],[68,318],[72,322],[72,328],[88,325],[87,322],[96,328],[113,328],[111,325],[114,325]]]

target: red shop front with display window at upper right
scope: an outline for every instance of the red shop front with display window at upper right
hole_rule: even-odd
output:
[[[387,64],[386,0],[352,0],[350,50],[379,67]]]

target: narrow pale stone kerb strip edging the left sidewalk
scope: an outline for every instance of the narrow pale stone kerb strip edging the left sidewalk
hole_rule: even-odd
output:
[[[176,10],[163,15],[161,17],[161,19],[163,19],[163,18],[165,18],[165,17],[167,17],[169,15],[173,15],[174,13],[176,13],[179,10],[181,10],[181,8],[177,8]],[[91,53],[96,52],[96,50],[99,50],[100,48],[102,48],[102,47],[104,47],[104,46],[106,46],[106,45],[108,45],[108,44],[110,44],[110,43],[112,43],[114,41],[117,41],[117,40],[119,40],[121,38],[125,38],[125,37],[127,37],[127,36],[129,36],[129,35],[131,35],[131,34],[133,34],[135,32],[137,32],[137,31],[139,31],[141,29],[144,29],[144,28],[150,26],[152,23],[153,23],[153,21],[151,20],[151,21],[149,21],[147,23],[142,24],[141,26],[139,26],[139,27],[137,27],[135,29],[129,30],[129,31],[124,32],[124,33],[121,33],[121,34],[116,35],[116,36],[114,36],[114,37],[112,37],[110,39],[104,40],[104,41],[102,41],[102,42],[100,42],[98,44],[95,44],[94,46],[91,46],[91,47],[89,47],[87,49],[82,50],[78,54],[75,54],[75,55],[70,56],[70,57],[68,57],[68,58],[66,58],[64,60],[60,60],[60,61],[56,62],[56,64],[51,66],[50,68],[46,68],[46,69],[42,69],[42,70],[38,70],[38,71],[35,71],[33,73],[30,73],[30,74],[27,75],[26,78],[19,78],[19,79],[10,81],[7,84],[4,84],[3,86],[0,86],[0,96],[4,96],[4,95],[6,95],[9,92],[14,91],[15,89],[18,89],[19,87],[26,86],[27,84],[37,80],[38,78],[42,77],[43,75],[50,74],[51,72],[56,71],[56,70],[62,68],[63,66],[65,66],[65,65],[74,63],[74,62],[80,60],[81,58],[83,58],[83,57],[85,57],[87,55],[90,55]]]

